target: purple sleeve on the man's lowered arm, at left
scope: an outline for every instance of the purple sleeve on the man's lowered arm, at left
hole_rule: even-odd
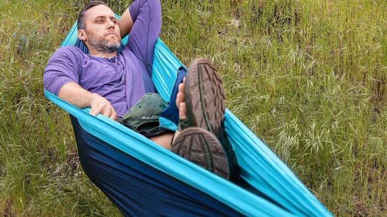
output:
[[[81,54],[76,47],[65,46],[50,57],[43,72],[43,86],[58,96],[59,90],[68,82],[79,84]],[[79,50],[79,49],[78,49]]]

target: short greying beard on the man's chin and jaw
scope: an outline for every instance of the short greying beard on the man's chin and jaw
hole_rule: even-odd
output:
[[[104,40],[102,37],[99,38],[97,35],[91,32],[88,32],[87,35],[89,36],[88,42],[90,47],[103,54],[111,54],[117,52],[118,49],[121,47],[121,38],[119,38],[118,41],[107,41]]]

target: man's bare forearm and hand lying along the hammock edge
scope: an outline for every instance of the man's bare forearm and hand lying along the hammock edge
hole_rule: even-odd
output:
[[[90,114],[94,116],[101,113],[113,120],[117,118],[117,113],[108,100],[83,89],[75,82],[63,85],[58,97],[81,109],[90,107]]]

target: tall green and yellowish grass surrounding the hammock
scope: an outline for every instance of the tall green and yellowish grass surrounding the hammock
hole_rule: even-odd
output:
[[[87,0],[0,2],[0,215],[120,216],[42,72]],[[129,2],[108,0],[121,14]],[[160,38],[334,216],[387,216],[386,0],[161,0]],[[258,168],[259,169],[259,168]]]

